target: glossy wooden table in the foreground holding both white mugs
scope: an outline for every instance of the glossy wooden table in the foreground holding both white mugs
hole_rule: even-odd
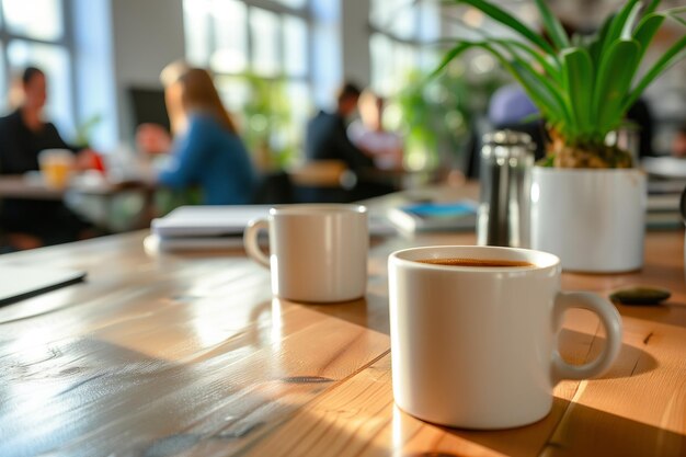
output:
[[[0,308],[0,455],[686,455],[682,230],[648,233],[641,272],[563,275],[564,289],[640,283],[673,296],[618,306],[625,336],[611,370],[559,384],[546,419],[499,432],[419,421],[391,392],[388,254],[473,243],[473,233],[374,240],[366,298],[328,306],[272,298],[268,272],[241,251],[146,252],[146,235],[0,258],[89,273]],[[582,363],[602,333],[574,310],[562,353]]]

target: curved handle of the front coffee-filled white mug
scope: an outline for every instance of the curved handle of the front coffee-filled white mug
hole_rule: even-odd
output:
[[[606,299],[590,292],[561,292],[554,300],[556,322],[561,322],[564,311],[570,308],[587,309],[601,318],[607,340],[596,359],[583,365],[571,365],[562,359],[556,349],[552,354],[553,384],[562,379],[588,379],[605,373],[619,354],[621,347],[621,316]]]

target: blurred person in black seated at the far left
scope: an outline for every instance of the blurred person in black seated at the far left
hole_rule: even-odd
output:
[[[45,73],[35,67],[21,79],[21,106],[0,118],[0,174],[38,170],[44,149],[69,149],[52,123],[43,121],[46,102]],[[15,249],[38,248],[87,238],[91,226],[58,201],[4,198],[0,227]]]

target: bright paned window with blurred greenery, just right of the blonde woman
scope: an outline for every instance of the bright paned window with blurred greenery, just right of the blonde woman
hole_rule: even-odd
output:
[[[299,151],[310,113],[307,0],[184,0],[186,57],[219,93],[264,168]]]

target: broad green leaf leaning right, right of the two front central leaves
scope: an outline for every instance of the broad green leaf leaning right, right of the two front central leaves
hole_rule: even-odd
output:
[[[624,100],[638,67],[640,45],[633,39],[615,42],[601,60],[593,91],[596,128],[606,133],[616,127],[624,114]]]

